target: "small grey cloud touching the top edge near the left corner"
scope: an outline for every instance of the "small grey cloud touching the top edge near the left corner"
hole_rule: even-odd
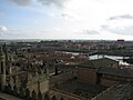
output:
[[[8,0],[9,2],[13,2],[18,6],[30,6],[32,0]]]

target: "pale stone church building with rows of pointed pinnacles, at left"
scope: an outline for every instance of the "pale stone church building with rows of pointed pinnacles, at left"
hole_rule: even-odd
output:
[[[49,90],[45,66],[35,70],[12,69],[6,47],[0,47],[0,91],[28,100],[42,100]]]

